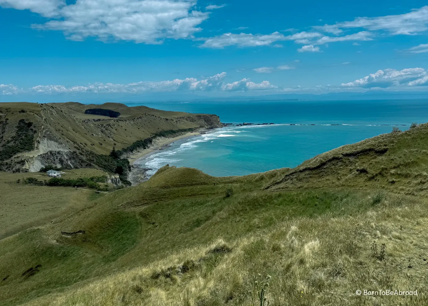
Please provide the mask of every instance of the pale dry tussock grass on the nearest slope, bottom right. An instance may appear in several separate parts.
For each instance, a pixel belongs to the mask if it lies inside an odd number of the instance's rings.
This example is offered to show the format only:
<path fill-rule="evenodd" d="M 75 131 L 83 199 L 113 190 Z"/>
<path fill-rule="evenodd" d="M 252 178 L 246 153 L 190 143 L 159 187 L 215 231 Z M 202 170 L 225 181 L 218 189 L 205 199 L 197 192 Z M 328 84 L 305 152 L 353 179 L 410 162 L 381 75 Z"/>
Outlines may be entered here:
<path fill-rule="evenodd" d="M 371 207 L 373 197 L 356 195 L 351 201 Z M 254 283 L 259 274 L 271 276 L 264 295 L 269 305 L 422 305 L 428 301 L 428 269 L 421 255 L 427 203 L 406 198 L 396 207 L 389 204 L 391 197 L 352 216 L 298 217 L 241 239 L 181 249 L 27 305 L 252 305 L 263 286 Z M 397 231 L 401 239 L 395 238 Z M 384 243 L 384 258 L 373 256 L 373 241 Z M 224 245 L 232 251 L 212 252 Z M 419 295 L 373 299 L 354 294 L 395 288 Z"/>

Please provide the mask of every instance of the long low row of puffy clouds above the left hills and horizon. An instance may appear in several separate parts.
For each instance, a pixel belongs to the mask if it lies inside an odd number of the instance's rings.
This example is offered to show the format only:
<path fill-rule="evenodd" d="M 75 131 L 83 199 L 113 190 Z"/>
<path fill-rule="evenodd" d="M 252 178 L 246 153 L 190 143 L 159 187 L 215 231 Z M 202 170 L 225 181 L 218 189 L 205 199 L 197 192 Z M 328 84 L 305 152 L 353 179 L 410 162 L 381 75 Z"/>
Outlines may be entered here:
<path fill-rule="evenodd" d="M 37 85 L 27 90 L 18 90 L 15 85 L 0 84 L 0 93 L 10 95 L 18 92 L 35 94 L 61 94 L 61 93 L 145 93 L 145 92 L 173 92 L 173 91 L 247 91 L 247 90 L 266 90 L 277 88 L 269 81 L 254 83 L 249 78 L 243 78 L 240 81 L 226 83 L 223 79 L 226 72 L 219 73 L 209 78 L 197 80 L 196 78 L 174 79 L 172 81 L 141 81 L 129 84 L 113 83 L 93 83 L 86 86 L 62 85 Z"/>

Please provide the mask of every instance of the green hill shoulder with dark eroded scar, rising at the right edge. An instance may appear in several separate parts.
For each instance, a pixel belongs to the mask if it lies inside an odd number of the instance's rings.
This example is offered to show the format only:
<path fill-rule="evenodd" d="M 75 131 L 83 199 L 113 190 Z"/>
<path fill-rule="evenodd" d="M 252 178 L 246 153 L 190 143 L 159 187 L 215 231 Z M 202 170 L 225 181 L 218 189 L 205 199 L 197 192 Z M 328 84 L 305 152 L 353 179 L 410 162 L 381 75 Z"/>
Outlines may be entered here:
<path fill-rule="evenodd" d="M 428 190 L 428 124 L 345 145 L 291 169 L 269 190 L 352 187 L 406 194 Z"/>

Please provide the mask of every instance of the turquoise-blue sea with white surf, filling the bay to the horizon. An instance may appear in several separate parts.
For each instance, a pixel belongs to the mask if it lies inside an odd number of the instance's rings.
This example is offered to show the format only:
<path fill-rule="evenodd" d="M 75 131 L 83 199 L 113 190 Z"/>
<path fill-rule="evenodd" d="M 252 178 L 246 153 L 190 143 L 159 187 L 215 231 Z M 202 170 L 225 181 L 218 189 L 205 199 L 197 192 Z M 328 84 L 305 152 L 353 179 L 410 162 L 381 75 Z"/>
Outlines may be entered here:
<path fill-rule="evenodd" d="M 136 164 L 198 168 L 214 176 L 245 175 L 295 167 L 328 150 L 428 122 L 428 100 L 255 101 L 128 103 L 167 111 L 217 114 L 233 123 L 207 134 L 181 139 Z M 275 123 L 236 126 L 238 123 Z"/>

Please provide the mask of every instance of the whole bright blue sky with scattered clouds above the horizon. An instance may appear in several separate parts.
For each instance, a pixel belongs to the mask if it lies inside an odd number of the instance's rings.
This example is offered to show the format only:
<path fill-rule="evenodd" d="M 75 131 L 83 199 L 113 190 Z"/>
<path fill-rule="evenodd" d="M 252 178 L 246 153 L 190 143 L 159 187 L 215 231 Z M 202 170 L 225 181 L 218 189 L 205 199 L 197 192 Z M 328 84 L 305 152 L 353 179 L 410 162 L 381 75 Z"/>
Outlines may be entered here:
<path fill-rule="evenodd" d="M 0 101 L 425 91 L 425 4 L 0 0 Z"/>

